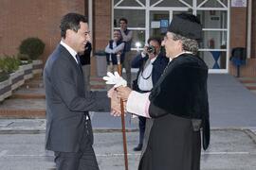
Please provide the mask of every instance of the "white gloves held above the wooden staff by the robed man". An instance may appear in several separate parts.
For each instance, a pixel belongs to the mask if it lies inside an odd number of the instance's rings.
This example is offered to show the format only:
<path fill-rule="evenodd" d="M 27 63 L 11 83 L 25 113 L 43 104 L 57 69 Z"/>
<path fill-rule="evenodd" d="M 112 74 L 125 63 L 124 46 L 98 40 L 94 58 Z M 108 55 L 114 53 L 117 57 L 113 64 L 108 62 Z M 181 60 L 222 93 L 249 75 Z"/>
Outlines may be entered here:
<path fill-rule="evenodd" d="M 106 84 L 115 84 L 115 88 L 127 86 L 127 81 L 119 76 L 118 72 L 115 72 L 114 75 L 111 72 L 107 72 L 107 76 L 103 76 L 103 79 L 106 80 Z"/>

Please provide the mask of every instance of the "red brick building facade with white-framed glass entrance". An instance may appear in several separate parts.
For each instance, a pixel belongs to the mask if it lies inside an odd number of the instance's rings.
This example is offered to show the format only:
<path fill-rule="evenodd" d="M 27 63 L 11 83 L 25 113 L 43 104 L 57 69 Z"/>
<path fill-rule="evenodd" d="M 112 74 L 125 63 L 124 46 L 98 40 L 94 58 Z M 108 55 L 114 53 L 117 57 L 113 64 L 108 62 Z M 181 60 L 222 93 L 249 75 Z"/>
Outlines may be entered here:
<path fill-rule="evenodd" d="M 0 0 L 0 54 L 16 54 L 19 43 L 27 37 L 46 42 L 43 59 L 60 42 L 59 24 L 67 12 L 79 12 L 89 18 L 94 50 L 103 49 L 119 18 L 128 19 L 134 32 L 132 47 L 142 49 L 151 36 L 163 36 L 174 14 L 197 15 L 203 25 L 199 56 L 210 73 L 230 73 L 234 47 L 247 49 L 247 66 L 241 76 L 256 76 L 256 2 L 252 0 Z M 253 10 L 254 9 L 254 10 Z M 139 43 L 138 43 L 139 42 Z M 136 44 L 140 44 L 136 46 Z M 92 73 L 96 73 L 92 57 Z"/>

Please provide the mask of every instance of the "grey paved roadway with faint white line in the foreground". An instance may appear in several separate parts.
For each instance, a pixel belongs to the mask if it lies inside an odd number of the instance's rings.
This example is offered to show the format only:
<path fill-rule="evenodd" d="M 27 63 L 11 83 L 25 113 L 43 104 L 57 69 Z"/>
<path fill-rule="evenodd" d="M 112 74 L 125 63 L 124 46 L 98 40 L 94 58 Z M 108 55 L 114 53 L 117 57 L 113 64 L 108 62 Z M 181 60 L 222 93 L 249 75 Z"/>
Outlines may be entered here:
<path fill-rule="evenodd" d="M 120 132 L 96 132 L 95 152 L 101 170 L 124 170 Z M 136 170 L 137 132 L 127 133 L 129 170 Z M 53 153 L 46 151 L 45 134 L 0 134 L 1 170 L 50 170 Z M 202 151 L 201 170 L 255 170 L 255 135 L 241 129 L 211 129 L 210 148 Z"/>

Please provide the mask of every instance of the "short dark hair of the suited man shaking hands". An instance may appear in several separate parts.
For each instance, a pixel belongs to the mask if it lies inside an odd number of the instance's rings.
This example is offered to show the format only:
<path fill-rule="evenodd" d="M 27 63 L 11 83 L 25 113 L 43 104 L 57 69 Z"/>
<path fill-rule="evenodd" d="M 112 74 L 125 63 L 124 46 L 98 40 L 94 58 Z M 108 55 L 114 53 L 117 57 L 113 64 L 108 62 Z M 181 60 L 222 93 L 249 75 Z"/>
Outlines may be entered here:
<path fill-rule="evenodd" d="M 78 32 L 80 29 L 80 22 L 88 23 L 85 16 L 78 13 L 67 13 L 64 15 L 61 21 L 61 36 L 65 38 L 65 32 L 67 29 L 71 29 L 75 32 Z"/>

